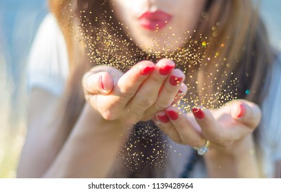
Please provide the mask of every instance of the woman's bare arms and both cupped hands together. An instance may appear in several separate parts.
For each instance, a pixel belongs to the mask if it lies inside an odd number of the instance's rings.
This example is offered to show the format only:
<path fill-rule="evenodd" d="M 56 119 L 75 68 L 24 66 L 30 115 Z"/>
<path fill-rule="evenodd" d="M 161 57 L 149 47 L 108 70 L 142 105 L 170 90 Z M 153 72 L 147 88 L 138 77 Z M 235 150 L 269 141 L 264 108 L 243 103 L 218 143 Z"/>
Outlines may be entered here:
<path fill-rule="evenodd" d="M 167 65 L 172 69 L 161 75 L 160 69 Z M 147 67 L 152 70 L 142 75 Z M 183 95 L 187 91 L 184 84 L 170 84 L 173 75 L 184 77 L 181 71 L 173 68 L 174 63 L 169 60 L 157 64 L 140 62 L 124 75 L 112 67 L 93 68 L 82 81 L 87 104 L 66 141 L 60 128 L 56 125 L 50 127 L 52 119 L 46 118 L 54 114 L 58 98 L 34 89 L 27 143 L 18 176 L 104 178 L 112 169 L 131 126 L 137 121 L 154 119 L 159 128 L 177 143 L 201 147 L 206 139 L 210 141 L 210 152 L 204 155 L 210 177 L 261 177 L 252 138 L 252 132 L 260 121 L 258 106 L 238 100 L 216 110 L 202 110 L 202 119 L 192 113 L 185 114 L 172 107 L 179 89 L 183 90 Z M 42 99 L 49 102 L 42 104 Z M 243 113 L 240 106 L 243 106 Z M 41 112 L 44 107 L 47 110 Z M 137 112 L 134 113 L 134 109 Z M 176 112 L 177 119 L 171 118 L 169 111 Z M 162 122 L 157 118 L 159 115 L 166 115 L 168 122 Z M 278 166 L 280 163 L 276 163 L 276 177 L 280 176 Z"/>

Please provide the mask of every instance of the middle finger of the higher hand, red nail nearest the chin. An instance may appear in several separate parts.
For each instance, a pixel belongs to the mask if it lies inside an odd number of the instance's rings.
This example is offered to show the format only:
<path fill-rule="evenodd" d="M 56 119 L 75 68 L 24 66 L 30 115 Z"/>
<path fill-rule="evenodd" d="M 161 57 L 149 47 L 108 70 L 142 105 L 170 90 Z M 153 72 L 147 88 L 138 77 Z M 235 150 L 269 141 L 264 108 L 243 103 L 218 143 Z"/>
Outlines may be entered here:
<path fill-rule="evenodd" d="M 137 115 L 144 115 L 144 112 L 155 104 L 161 87 L 174 67 L 175 63 L 171 60 L 164 59 L 157 62 L 155 70 L 139 87 L 135 97 L 128 103 L 127 108 Z"/>

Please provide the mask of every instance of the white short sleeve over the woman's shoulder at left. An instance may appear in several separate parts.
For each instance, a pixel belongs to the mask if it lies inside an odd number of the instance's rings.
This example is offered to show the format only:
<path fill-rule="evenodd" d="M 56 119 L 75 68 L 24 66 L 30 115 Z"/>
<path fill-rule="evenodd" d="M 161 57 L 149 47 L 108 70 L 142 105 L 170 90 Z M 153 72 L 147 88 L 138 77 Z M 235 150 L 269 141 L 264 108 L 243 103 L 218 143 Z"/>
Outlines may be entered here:
<path fill-rule="evenodd" d="M 53 14 L 43 19 L 30 51 L 27 64 L 27 86 L 44 88 L 60 95 L 68 77 L 65 38 Z"/>

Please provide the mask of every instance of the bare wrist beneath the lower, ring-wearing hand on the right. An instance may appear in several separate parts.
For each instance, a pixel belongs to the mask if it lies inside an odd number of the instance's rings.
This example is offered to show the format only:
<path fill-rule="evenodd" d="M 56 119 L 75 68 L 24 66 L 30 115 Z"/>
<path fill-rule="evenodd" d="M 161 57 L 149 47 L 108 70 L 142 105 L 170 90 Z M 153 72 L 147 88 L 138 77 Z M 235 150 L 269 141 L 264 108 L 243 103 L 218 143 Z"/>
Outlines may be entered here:
<path fill-rule="evenodd" d="M 211 178 L 260 177 L 252 135 L 227 147 L 211 143 L 204 161 Z"/>

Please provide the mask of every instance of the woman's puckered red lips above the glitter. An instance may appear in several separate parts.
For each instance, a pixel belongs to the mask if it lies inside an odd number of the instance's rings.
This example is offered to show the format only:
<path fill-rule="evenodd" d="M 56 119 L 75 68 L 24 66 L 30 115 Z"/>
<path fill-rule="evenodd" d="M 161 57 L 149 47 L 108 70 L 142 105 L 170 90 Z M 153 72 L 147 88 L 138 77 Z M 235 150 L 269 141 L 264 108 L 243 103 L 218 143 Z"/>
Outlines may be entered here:
<path fill-rule="evenodd" d="M 145 12 L 139 17 L 139 24 L 145 29 L 155 31 L 164 28 L 171 19 L 172 16 L 166 12 Z"/>

